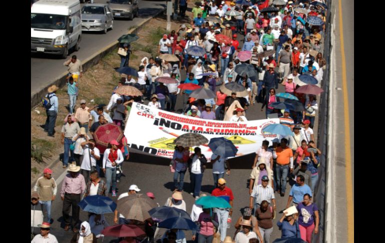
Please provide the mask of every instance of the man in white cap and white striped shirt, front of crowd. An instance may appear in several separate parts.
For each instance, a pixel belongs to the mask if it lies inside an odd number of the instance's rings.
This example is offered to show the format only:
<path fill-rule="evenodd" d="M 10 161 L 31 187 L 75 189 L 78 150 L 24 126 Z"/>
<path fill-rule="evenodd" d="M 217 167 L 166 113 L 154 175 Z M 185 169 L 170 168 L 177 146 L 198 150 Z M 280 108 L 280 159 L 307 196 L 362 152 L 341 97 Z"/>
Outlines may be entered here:
<path fill-rule="evenodd" d="M 254 199 L 254 204 L 252 203 L 252 199 Z M 256 210 L 260 207 L 260 203 L 266 200 L 268 203 L 272 201 L 273 208 L 275 210 L 275 196 L 274 190 L 271 186 L 268 185 L 268 177 L 266 175 L 262 176 L 262 184 L 254 186 L 250 195 L 250 208 L 254 208 Z"/>

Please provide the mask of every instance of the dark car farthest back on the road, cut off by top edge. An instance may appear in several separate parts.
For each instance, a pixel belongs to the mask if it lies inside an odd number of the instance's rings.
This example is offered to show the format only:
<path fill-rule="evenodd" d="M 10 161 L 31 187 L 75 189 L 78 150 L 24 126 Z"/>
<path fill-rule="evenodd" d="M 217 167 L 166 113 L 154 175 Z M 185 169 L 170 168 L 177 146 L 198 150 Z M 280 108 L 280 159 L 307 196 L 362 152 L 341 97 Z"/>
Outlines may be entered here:
<path fill-rule="evenodd" d="M 137 0 L 110 0 L 107 1 L 108 7 L 113 12 L 113 18 L 128 18 L 133 20 L 139 16 Z"/>

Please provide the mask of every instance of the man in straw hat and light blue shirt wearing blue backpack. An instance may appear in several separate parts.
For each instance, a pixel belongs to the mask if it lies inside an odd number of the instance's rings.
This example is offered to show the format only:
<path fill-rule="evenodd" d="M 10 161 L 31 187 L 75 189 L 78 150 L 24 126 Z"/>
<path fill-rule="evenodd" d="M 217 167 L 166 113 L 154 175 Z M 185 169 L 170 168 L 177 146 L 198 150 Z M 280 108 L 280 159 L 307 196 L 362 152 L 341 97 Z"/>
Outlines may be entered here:
<path fill-rule="evenodd" d="M 52 85 L 48 88 L 48 94 L 45 95 L 45 97 L 48 98 L 51 107 L 45 110 L 47 114 L 47 119 L 45 120 L 45 124 L 40 125 L 40 127 L 44 128 L 44 132 L 47 132 L 48 136 L 50 137 L 53 137 L 53 134 L 55 133 L 54 128 L 56 123 L 57 111 L 59 108 L 58 99 L 55 93 L 58 89 L 59 88 L 56 87 L 56 85 Z"/>

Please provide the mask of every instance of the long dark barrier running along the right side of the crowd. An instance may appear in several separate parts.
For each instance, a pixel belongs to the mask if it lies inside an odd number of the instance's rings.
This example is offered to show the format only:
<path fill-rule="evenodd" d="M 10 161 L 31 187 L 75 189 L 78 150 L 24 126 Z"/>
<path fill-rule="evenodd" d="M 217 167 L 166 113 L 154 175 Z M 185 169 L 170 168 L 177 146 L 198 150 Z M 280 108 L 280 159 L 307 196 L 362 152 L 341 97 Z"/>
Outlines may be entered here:
<path fill-rule="evenodd" d="M 331 49 L 331 13 L 330 13 L 330 4 L 331 1 L 327 1 L 327 16 L 326 16 L 326 28 L 324 33 L 324 43 L 323 43 L 323 58 L 326 60 L 326 70 L 323 72 L 322 79 L 322 89 L 324 90 L 320 96 L 319 100 L 319 112 L 318 112 L 318 139 L 317 139 L 317 148 L 321 150 L 322 155 L 320 156 L 320 164 L 318 167 L 318 182 L 315 186 L 315 194 L 313 195 L 314 202 L 318 206 L 319 212 L 319 232 L 313 234 L 311 240 L 312 243 L 324 242 L 325 239 L 325 208 L 326 208 L 326 159 L 327 155 L 327 114 L 328 114 L 328 97 L 329 97 L 329 74 L 330 74 L 330 49 Z"/>

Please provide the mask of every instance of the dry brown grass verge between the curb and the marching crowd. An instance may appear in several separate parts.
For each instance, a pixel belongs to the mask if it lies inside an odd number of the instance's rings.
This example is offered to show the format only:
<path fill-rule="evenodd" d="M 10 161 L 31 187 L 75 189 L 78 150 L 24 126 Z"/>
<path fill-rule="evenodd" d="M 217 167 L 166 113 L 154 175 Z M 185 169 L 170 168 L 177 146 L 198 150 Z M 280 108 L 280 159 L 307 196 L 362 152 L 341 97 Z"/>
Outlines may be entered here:
<path fill-rule="evenodd" d="M 185 23 L 185 22 L 183 22 Z M 181 22 L 171 22 L 171 30 L 177 30 Z M 167 33 L 165 17 L 151 19 L 144 28 L 137 34 L 139 40 L 131 43 L 132 54 L 130 55 L 129 66 L 137 69 L 143 57 L 156 57 L 157 46 L 163 34 Z M 95 104 L 108 104 L 112 89 L 117 85 L 120 74 L 114 68 L 119 67 L 120 58 L 117 49 L 105 56 L 98 64 L 88 69 L 78 81 L 79 95 L 75 109 L 81 99 L 86 100 L 87 107 Z M 55 137 L 48 137 L 39 126 L 45 123 L 45 109 L 39 105 L 31 110 L 31 181 L 39 176 L 47 165 L 58 159 L 63 152 L 63 145 L 60 143 L 61 127 L 63 120 L 68 114 L 69 104 L 66 87 L 56 92 L 59 101 L 59 109 L 55 126 Z"/>

